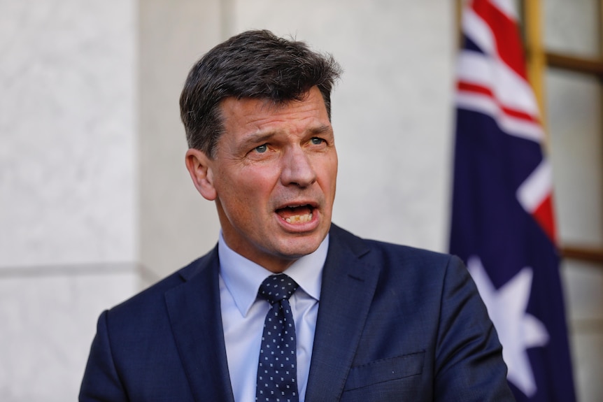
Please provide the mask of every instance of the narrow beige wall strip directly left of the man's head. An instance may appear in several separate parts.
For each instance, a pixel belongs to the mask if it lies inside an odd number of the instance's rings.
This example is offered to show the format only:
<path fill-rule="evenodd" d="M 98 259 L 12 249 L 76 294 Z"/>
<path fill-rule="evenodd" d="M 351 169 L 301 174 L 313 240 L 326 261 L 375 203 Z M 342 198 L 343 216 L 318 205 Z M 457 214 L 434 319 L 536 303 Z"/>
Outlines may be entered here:
<path fill-rule="evenodd" d="M 218 218 L 185 168 L 179 99 L 194 62 L 220 42 L 220 0 L 139 4 L 140 259 L 162 277 L 213 247 Z"/>

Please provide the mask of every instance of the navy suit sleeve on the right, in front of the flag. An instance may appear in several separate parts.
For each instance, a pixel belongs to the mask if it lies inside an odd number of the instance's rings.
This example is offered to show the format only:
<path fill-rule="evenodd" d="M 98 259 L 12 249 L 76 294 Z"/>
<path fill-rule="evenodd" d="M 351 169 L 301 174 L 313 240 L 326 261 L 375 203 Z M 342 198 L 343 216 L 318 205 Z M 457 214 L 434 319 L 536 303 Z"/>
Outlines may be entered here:
<path fill-rule="evenodd" d="M 462 261 L 451 257 L 441 296 L 436 401 L 514 401 L 488 312 Z"/>

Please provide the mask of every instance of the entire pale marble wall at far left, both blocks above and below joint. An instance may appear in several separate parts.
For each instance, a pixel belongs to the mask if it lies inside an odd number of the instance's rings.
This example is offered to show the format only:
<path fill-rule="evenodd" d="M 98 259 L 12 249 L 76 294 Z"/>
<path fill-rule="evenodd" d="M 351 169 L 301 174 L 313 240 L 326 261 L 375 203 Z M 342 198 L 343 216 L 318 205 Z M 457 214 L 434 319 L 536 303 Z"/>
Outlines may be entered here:
<path fill-rule="evenodd" d="M 75 401 L 138 289 L 136 1 L 0 0 L 0 401 Z"/>

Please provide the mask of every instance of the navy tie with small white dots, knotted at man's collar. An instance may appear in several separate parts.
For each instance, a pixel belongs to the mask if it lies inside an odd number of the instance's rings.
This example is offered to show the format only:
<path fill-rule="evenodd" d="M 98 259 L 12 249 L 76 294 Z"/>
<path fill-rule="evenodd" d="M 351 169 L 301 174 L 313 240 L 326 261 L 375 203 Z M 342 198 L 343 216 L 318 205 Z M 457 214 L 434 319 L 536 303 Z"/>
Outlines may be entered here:
<path fill-rule="evenodd" d="M 270 275 L 258 295 L 271 304 L 264 321 L 260 361 L 257 364 L 255 400 L 297 402 L 297 352 L 295 323 L 289 297 L 298 285 L 284 273 Z"/>

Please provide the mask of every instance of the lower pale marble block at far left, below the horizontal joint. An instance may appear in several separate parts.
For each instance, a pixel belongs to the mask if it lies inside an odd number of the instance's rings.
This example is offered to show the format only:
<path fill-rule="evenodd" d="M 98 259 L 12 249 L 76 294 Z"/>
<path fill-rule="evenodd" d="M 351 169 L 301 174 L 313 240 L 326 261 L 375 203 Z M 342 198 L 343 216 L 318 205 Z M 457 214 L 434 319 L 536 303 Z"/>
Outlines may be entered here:
<path fill-rule="evenodd" d="M 130 264 L 0 270 L 0 401 L 76 401 L 98 315 L 138 287 Z"/>

